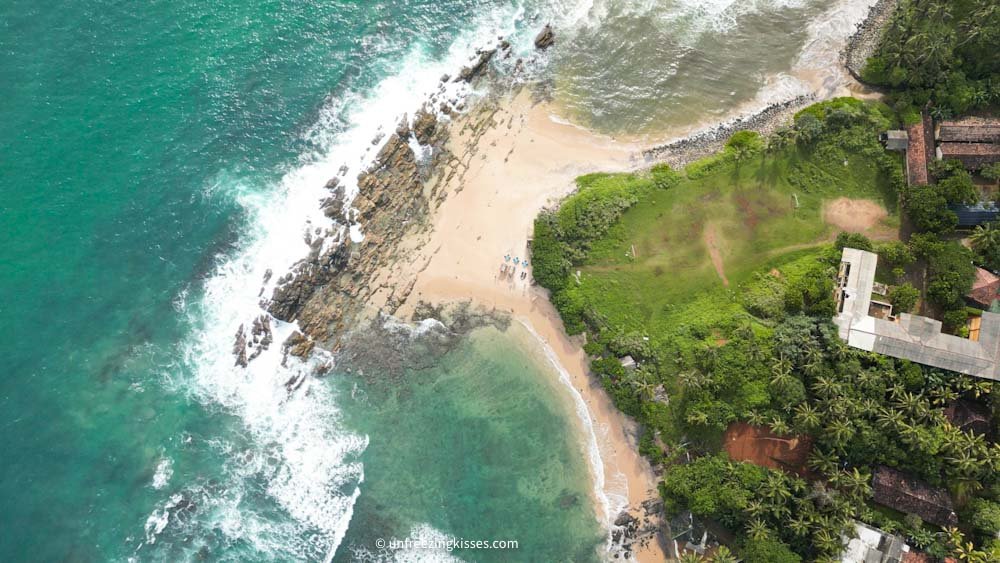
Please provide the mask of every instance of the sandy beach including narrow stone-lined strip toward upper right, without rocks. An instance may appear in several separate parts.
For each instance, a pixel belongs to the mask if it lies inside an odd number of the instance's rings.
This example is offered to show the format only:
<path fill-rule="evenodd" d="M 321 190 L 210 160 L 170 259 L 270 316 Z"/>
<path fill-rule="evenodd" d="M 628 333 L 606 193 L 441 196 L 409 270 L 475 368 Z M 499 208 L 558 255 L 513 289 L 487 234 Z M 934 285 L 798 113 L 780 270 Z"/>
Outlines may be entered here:
<path fill-rule="evenodd" d="M 836 50 L 842 46 L 836 45 Z M 547 292 L 531 284 L 530 265 L 518 265 L 513 276 L 502 275 L 501 267 L 513 266 L 514 258 L 530 258 L 527 246 L 535 217 L 571 193 L 574 179 L 582 174 L 631 171 L 654 162 L 683 166 L 718 150 L 735 130 L 766 134 L 818 99 L 872 95 L 842 68 L 827 72 L 835 78 L 803 76 L 816 79 L 812 95 L 763 111 L 737 111 L 736 116 L 743 116 L 694 132 L 675 132 L 664 137 L 673 141 L 658 146 L 651 146 L 649 139 L 615 139 L 572 125 L 555 117 L 555 106 L 533 101 L 528 89 L 476 104 L 448 124 L 448 150 L 457 158 L 435 171 L 441 177 L 427 182 L 440 190 L 428 194 L 436 202 L 429 224 L 404 239 L 389 261 L 392 266 L 378 274 L 374 286 L 380 289 L 371 305 L 409 318 L 421 302 L 471 301 L 524 324 L 565 370 L 587 408 L 602 465 L 592 473 L 604 496 L 613 499 L 610 507 L 598 502 L 598 512 L 607 509 L 610 525 L 618 516 L 614 500 L 621 499 L 619 504 L 627 502 L 627 510 L 640 516 L 643 503 L 657 500 L 658 494 L 657 477 L 638 453 L 636 423 L 615 408 L 600 382 L 590 376 L 582 338 L 566 335 Z M 525 279 L 522 272 L 527 272 Z M 639 561 L 662 561 L 665 542 L 659 536 L 640 539 L 632 544 L 632 555 Z"/>

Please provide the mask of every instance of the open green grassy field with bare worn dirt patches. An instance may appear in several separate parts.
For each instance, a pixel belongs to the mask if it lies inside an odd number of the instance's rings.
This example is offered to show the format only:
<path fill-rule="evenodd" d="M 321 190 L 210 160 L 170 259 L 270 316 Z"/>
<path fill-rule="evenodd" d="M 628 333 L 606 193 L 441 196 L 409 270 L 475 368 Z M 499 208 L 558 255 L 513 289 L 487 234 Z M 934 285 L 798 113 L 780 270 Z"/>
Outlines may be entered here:
<path fill-rule="evenodd" d="M 805 184 L 805 174 L 819 179 Z M 823 206 L 843 197 L 886 207 L 877 230 L 894 232 L 895 195 L 863 157 L 822 166 L 789 151 L 723 163 L 669 190 L 645 191 L 593 242 L 574 268 L 580 283 L 567 291 L 626 332 L 667 336 L 692 322 L 712 324 L 740 312 L 737 293 L 754 272 L 780 269 L 829 242 L 839 229 L 824 222 Z"/>

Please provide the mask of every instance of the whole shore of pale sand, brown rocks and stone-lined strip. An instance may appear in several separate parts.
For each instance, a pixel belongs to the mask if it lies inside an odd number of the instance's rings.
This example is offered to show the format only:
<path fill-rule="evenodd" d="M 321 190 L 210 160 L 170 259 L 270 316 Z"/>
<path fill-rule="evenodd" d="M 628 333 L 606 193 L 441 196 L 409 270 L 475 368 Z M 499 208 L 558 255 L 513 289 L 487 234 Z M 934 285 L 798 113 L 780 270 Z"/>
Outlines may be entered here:
<path fill-rule="evenodd" d="M 884 23 L 877 18 L 870 23 L 877 15 L 869 9 L 857 30 Z M 855 31 L 844 37 L 847 47 L 841 43 L 837 50 L 850 49 L 850 42 L 863 35 Z M 364 235 L 355 240 L 352 234 L 350 242 L 336 236 L 333 247 L 322 238 L 311 242 L 309 259 L 295 275 L 279 280 L 272 313 L 299 321 L 305 333 L 293 334 L 285 353 L 308 356 L 317 343 L 336 351 L 342 328 L 374 311 L 408 319 L 424 304 L 471 302 L 509 315 L 534 335 L 554 372 L 572 387 L 567 394 L 585 406 L 578 409 L 579 423 L 600 452 L 599 459 L 590 456 L 590 468 L 595 515 L 605 520 L 609 547 L 616 557 L 664 560 L 668 549 L 660 537 L 658 478 L 638 453 L 637 425 L 590 377 L 582 339 L 566 335 L 547 292 L 531 285 L 530 276 L 501 276 L 500 267 L 504 256 L 528 257 L 538 212 L 573 192 L 580 175 L 635 171 L 655 162 L 683 166 L 717 151 L 735 131 L 767 134 L 813 102 L 869 95 L 843 66 L 824 70 L 832 71 L 827 79 L 817 73 L 809 80 L 814 93 L 693 134 L 679 131 L 687 135 L 654 147 L 559 119 L 552 105 L 533 99 L 530 87 L 523 86 L 476 100 L 460 114 L 443 112 L 450 119 L 435 116 L 427 106 L 412 124 L 404 116 L 359 176 L 353 201 L 341 209 L 346 198 L 339 178 L 327 184 L 333 194 L 324 202 L 327 215 L 341 224 L 345 218 L 357 221 Z M 414 140 L 422 148 L 414 150 Z M 344 273 L 333 275 L 327 264 Z M 619 506 L 624 510 L 619 512 Z"/>

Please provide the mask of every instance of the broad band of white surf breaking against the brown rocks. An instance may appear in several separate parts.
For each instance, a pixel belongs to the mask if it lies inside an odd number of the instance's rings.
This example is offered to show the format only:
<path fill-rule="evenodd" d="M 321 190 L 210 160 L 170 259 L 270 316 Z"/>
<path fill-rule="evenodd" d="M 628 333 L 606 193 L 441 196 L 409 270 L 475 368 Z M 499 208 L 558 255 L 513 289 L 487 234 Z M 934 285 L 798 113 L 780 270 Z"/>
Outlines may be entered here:
<path fill-rule="evenodd" d="M 515 24 L 523 20 L 520 7 L 486 14 L 439 60 L 418 45 L 394 65 L 401 72 L 383 79 L 367 95 L 352 92 L 331 100 L 305 135 L 321 150 L 301 155 L 277 185 L 255 189 L 222 172 L 207 188 L 209 195 L 221 193 L 246 209 L 251 228 L 234 256 L 220 257 L 204 283 L 202 299 L 175 300 L 175 308 L 195 327 L 182 349 L 191 375 L 175 379 L 166 374 L 165 379 L 206 407 L 236 415 L 252 446 L 241 451 L 225 437 L 205 441 L 229 459 L 218 489 L 178 483 L 168 491 L 169 467 L 164 466 L 154 487 L 164 488 L 165 497 L 147 518 L 145 541 L 137 553 L 163 545 L 157 539 L 178 528 L 178 534 L 193 535 L 199 544 L 221 533 L 226 543 L 249 545 L 260 556 L 325 561 L 335 556 L 361 493 L 364 468 L 359 459 L 368 437 L 341 430 L 336 395 L 309 377 L 317 362 L 332 358 L 322 352 L 305 362 L 285 357 L 280 344 L 299 327 L 274 319 L 266 312 L 266 302 L 282 275 L 310 252 L 307 238 L 323 233 L 324 244 L 343 244 L 347 238 L 364 236 L 363 225 L 339 225 L 325 216 L 321 202 L 329 196 L 326 182 L 342 179 L 349 208 L 357 194 L 358 173 L 380 149 L 372 138 L 393 131 L 404 115 L 412 116 L 435 95 L 452 100 L 474 96 L 468 84 L 442 82 L 439 77 L 454 75 L 474 58 L 477 48 L 495 43 L 498 35 L 513 35 Z M 530 48 L 525 37 L 517 44 Z M 256 332 L 265 325 L 270 346 L 261 345 Z M 246 367 L 234 366 L 233 335 L 247 331 L 253 335 L 252 357 Z M 295 382 L 294 390 L 290 382 Z M 263 491 L 253 488 L 261 480 Z M 248 510 L 245 499 L 254 494 L 267 495 L 290 518 Z M 194 506 L 200 507 L 196 518 L 187 512 L 180 517 Z"/>

